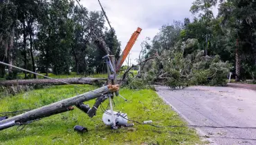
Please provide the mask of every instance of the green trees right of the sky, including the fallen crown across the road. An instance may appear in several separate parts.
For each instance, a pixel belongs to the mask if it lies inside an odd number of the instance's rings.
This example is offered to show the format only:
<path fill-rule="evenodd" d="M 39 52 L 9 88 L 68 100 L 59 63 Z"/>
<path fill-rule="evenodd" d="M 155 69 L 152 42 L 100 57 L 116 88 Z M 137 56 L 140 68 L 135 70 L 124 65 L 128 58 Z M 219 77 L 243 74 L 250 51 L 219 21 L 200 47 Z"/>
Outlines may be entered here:
<path fill-rule="evenodd" d="M 150 80 L 154 80 L 161 76 L 167 84 L 177 84 L 195 82 L 191 79 L 197 76 L 197 83 L 192 84 L 222 85 L 231 71 L 237 81 L 255 81 L 256 3 L 253 0 L 219 1 L 219 13 L 214 17 L 212 7 L 217 2 L 194 1 L 190 8 L 196 15 L 193 21 L 185 18 L 183 22 L 164 25 L 152 41 L 142 43 L 138 61 L 154 57 L 143 64 L 144 77 L 151 76 Z M 154 70 L 147 69 L 152 67 Z"/>

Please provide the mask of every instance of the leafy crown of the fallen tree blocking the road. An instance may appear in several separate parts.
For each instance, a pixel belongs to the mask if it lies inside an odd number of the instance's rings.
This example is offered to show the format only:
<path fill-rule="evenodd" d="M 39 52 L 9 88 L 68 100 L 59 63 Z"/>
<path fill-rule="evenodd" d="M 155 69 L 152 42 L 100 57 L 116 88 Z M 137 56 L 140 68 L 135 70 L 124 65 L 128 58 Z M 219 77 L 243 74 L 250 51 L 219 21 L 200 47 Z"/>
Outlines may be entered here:
<path fill-rule="evenodd" d="M 221 61 L 219 55 L 205 56 L 203 50 L 185 53 L 186 47 L 178 43 L 170 50 L 163 50 L 161 55 L 152 50 L 152 53 L 144 57 L 145 63 L 139 64 L 139 77 L 129 77 L 127 74 L 131 69 L 127 69 L 123 76 L 128 76 L 125 84 L 131 89 L 150 88 L 152 84 L 170 88 L 194 85 L 226 86 L 227 74 L 232 68 L 228 61 Z M 152 55 L 153 58 L 150 57 Z"/>

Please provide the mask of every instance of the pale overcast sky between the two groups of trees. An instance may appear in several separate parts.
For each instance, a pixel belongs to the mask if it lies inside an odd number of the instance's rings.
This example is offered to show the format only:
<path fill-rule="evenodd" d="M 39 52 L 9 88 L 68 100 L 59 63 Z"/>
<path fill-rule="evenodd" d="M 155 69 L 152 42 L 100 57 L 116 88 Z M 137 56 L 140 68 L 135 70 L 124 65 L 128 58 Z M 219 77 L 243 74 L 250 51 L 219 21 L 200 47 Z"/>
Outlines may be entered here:
<path fill-rule="evenodd" d="M 132 33 L 138 28 L 142 32 L 131 49 L 132 64 L 140 52 L 140 43 L 146 37 L 151 39 L 163 24 L 172 24 L 174 20 L 193 18 L 190 6 L 194 0 L 100 0 L 107 13 L 111 26 L 116 30 L 122 50 Z M 81 0 L 80 3 L 90 11 L 101 10 L 98 0 Z M 105 24 L 107 26 L 107 23 Z M 107 26 L 108 27 L 108 26 Z"/>

